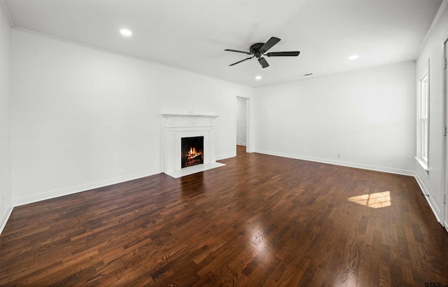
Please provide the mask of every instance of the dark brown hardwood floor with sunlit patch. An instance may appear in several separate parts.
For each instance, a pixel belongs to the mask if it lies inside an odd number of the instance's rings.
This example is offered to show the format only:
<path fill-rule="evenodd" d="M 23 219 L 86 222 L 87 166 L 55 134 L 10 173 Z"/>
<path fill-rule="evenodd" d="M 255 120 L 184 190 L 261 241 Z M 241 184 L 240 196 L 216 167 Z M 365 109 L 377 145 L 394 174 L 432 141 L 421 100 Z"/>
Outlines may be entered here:
<path fill-rule="evenodd" d="M 241 148 L 181 179 L 15 207 L 0 285 L 448 284 L 448 235 L 414 178 Z"/>

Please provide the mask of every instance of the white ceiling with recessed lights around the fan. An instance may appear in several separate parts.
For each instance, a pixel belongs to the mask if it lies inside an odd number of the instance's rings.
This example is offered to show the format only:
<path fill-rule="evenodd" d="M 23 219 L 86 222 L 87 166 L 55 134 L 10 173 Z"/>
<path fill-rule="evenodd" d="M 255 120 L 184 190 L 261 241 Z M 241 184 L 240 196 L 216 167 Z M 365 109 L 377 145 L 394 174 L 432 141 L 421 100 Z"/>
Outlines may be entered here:
<path fill-rule="evenodd" d="M 414 59 L 442 0 L 5 0 L 15 27 L 252 87 Z M 132 30 L 130 37 L 119 33 Z M 281 38 L 254 58 L 248 50 Z M 359 58 L 351 61 L 350 55 Z M 255 80 L 255 76 L 262 80 Z"/>

